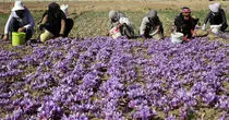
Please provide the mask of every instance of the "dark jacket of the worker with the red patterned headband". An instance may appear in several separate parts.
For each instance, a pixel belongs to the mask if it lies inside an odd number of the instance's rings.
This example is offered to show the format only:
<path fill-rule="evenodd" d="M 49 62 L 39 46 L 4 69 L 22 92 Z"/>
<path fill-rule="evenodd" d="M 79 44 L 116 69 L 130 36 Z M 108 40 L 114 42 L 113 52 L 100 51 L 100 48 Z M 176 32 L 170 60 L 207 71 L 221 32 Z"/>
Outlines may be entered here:
<path fill-rule="evenodd" d="M 182 13 L 180 13 L 174 19 L 174 25 L 176 25 L 177 32 L 183 33 L 184 36 L 188 36 L 188 38 L 192 37 L 192 32 L 194 32 L 194 28 L 197 22 L 198 22 L 198 19 L 193 19 L 192 16 L 190 16 L 190 19 L 185 21 Z"/>

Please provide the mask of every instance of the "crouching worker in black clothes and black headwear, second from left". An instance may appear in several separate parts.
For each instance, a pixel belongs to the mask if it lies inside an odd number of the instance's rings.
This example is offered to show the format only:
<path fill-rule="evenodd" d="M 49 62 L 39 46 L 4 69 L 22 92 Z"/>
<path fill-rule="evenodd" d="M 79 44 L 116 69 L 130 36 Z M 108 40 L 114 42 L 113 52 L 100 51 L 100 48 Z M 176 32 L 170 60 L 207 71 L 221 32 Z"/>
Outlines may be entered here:
<path fill-rule="evenodd" d="M 50 38 L 68 37 L 73 27 L 73 21 L 68 21 L 60 5 L 52 2 L 48 5 L 48 10 L 44 13 L 39 29 L 45 32 L 40 35 L 40 41 Z"/>

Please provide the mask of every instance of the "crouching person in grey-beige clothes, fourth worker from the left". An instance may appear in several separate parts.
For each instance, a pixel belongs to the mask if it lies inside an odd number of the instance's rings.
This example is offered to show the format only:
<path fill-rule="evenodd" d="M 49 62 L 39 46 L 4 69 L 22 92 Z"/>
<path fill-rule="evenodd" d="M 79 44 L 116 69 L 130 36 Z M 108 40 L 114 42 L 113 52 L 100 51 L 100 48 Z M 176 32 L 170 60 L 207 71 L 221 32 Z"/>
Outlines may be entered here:
<path fill-rule="evenodd" d="M 140 35 L 144 38 L 164 38 L 164 27 L 159 17 L 157 16 L 157 11 L 150 10 L 142 20 L 140 26 Z"/>

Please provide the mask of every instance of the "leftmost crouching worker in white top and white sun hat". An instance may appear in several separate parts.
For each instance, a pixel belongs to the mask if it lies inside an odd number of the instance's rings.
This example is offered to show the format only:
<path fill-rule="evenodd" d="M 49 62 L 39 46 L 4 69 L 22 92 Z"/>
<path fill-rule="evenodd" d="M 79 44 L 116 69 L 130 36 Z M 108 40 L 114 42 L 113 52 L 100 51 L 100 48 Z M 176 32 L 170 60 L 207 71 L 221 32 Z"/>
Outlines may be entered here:
<path fill-rule="evenodd" d="M 34 19 L 22 3 L 22 1 L 15 1 L 12 12 L 4 26 L 4 36 L 2 40 L 9 39 L 9 34 L 12 32 L 26 33 L 25 40 L 28 40 L 34 32 Z"/>

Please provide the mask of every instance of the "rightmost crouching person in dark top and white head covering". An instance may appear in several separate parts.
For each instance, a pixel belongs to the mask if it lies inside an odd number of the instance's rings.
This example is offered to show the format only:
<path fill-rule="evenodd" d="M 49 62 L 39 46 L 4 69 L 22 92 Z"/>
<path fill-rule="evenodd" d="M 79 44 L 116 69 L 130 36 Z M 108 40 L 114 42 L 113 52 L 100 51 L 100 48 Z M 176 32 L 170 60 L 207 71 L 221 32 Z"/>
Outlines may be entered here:
<path fill-rule="evenodd" d="M 228 27 L 227 19 L 225 11 L 221 9 L 221 4 L 219 2 L 216 2 L 214 4 L 209 4 L 209 13 L 207 14 L 204 24 L 202 26 L 202 29 L 206 29 L 206 24 L 209 21 L 210 25 L 220 25 L 220 31 L 225 32 Z"/>

